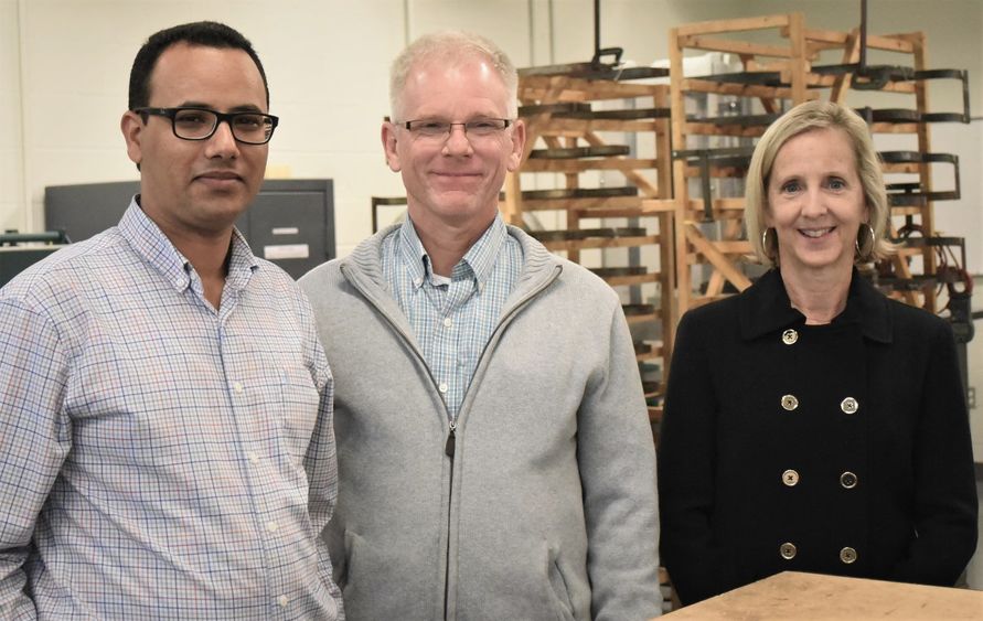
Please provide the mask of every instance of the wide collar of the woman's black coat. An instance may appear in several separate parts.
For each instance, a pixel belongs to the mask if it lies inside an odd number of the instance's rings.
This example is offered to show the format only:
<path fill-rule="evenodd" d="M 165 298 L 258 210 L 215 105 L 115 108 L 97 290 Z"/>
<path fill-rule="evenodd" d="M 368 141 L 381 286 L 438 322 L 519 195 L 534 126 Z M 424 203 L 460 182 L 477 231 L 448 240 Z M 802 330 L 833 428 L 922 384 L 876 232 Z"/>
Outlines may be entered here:
<path fill-rule="evenodd" d="M 778 269 L 769 270 L 740 295 L 740 332 L 746 340 L 805 323 L 805 317 L 792 308 Z M 891 342 L 891 315 L 887 298 L 861 277 L 856 268 L 846 295 L 846 308 L 833 319 L 834 324 L 858 323 L 867 339 Z"/>

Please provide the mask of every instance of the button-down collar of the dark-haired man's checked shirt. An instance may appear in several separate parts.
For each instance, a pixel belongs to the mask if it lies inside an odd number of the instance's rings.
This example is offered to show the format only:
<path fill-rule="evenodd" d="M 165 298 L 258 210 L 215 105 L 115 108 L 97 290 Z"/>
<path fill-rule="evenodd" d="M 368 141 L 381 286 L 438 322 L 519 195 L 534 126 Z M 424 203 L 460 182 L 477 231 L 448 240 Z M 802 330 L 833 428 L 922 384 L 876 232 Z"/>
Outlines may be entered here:
<path fill-rule="evenodd" d="M 130 201 L 117 228 L 139 256 L 153 266 L 179 291 L 191 286 L 193 267 L 157 224 L 140 207 L 140 195 Z M 232 232 L 232 257 L 226 283 L 234 290 L 243 289 L 259 261 L 237 228 Z"/>

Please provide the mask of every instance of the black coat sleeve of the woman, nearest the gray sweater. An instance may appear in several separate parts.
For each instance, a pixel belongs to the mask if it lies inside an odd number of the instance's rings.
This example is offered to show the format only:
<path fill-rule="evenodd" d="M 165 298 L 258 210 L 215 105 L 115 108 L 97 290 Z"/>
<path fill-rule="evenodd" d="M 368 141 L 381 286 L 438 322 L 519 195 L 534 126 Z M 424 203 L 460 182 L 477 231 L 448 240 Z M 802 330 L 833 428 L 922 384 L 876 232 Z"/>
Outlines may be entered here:
<path fill-rule="evenodd" d="M 687 313 L 676 332 L 659 438 L 660 549 L 680 600 L 735 588 L 735 566 L 713 535 L 718 397 L 705 335 Z"/>

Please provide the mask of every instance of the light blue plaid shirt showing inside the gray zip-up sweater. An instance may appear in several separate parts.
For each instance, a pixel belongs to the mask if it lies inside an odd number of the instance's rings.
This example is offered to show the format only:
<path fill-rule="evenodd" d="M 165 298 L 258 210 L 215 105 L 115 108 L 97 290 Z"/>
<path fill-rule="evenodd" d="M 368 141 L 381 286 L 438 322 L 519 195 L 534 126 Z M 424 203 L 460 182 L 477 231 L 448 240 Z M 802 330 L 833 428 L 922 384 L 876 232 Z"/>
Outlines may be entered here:
<path fill-rule="evenodd" d="M 519 280 L 522 247 L 495 215 L 447 280 L 434 274 L 407 217 L 383 239 L 382 265 L 453 420 L 505 299 Z"/>

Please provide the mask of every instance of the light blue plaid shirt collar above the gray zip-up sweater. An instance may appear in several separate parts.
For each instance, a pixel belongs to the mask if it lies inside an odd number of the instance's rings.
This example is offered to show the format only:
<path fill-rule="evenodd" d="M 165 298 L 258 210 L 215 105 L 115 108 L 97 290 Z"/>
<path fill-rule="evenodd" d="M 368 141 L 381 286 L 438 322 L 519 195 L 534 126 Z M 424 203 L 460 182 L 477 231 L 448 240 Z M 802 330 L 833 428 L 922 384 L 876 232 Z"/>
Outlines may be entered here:
<path fill-rule="evenodd" d="M 505 243 L 507 235 L 509 232 L 505 228 L 502 216 L 495 214 L 491 225 L 484 229 L 481 237 L 468 248 L 468 251 L 464 253 L 458 265 L 453 267 L 451 279 L 460 280 L 471 276 L 478 289 L 484 289 L 484 285 L 495 266 L 499 250 L 502 248 L 502 244 Z M 426 248 L 424 248 L 419 235 L 416 233 L 416 226 L 408 216 L 399 227 L 398 236 L 399 253 L 408 266 L 414 287 L 419 288 L 432 274 L 432 266 L 430 257 Z"/>

